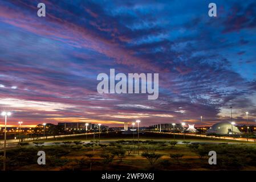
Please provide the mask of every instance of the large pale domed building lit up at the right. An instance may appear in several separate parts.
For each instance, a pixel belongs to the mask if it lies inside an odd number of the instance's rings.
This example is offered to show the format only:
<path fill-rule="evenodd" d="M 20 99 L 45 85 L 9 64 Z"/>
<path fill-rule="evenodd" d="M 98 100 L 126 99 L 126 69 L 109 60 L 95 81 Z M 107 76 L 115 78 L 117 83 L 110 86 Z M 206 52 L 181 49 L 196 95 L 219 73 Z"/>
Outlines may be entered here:
<path fill-rule="evenodd" d="M 231 123 L 216 123 L 207 131 L 208 134 L 232 134 L 232 125 Z M 234 134 L 241 134 L 241 131 L 237 127 L 233 126 Z"/>

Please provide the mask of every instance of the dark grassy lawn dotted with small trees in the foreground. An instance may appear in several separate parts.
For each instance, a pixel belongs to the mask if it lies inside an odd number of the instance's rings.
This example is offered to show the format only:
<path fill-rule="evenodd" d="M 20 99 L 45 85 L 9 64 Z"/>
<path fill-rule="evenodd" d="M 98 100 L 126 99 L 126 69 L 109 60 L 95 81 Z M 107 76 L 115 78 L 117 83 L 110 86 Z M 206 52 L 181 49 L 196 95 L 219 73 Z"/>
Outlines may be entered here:
<path fill-rule="evenodd" d="M 256 170 L 256 146 L 254 144 L 225 144 L 223 140 L 198 140 L 191 137 L 186 141 L 200 141 L 201 144 L 175 144 L 173 139 L 166 136 L 152 137 L 143 135 L 139 145 L 127 136 L 105 136 L 101 138 L 101 145 L 97 143 L 93 150 L 92 143 L 62 143 L 64 141 L 83 140 L 83 137 L 47 140 L 43 146 L 23 146 L 7 150 L 7 169 L 9 170 Z M 88 137 L 88 141 L 93 138 Z M 123 139 L 123 140 L 118 140 Z M 137 141 L 137 140 L 136 140 Z M 177 141 L 182 142 L 182 139 Z M 204 142 L 214 143 L 204 143 Z M 225 142 L 220 144 L 218 142 Z M 37 164 L 39 150 L 46 152 L 46 165 Z M 217 165 L 209 165 L 208 152 L 214 150 L 218 154 Z M 122 153 L 122 151 L 124 153 Z M 129 153 L 130 151 L 130 153 Z M 141 154 L 160 155 L 153 164 Z M 203 153 L 204 155 L 202 155 Z M 94 154 L 92 156 L 88 154 Z M 180 154 L 180 158 L 170 155 Z M 2 165 L 2 164 L 1 164 Z M 0 166 L 1 167 L 1 166 Z"/>

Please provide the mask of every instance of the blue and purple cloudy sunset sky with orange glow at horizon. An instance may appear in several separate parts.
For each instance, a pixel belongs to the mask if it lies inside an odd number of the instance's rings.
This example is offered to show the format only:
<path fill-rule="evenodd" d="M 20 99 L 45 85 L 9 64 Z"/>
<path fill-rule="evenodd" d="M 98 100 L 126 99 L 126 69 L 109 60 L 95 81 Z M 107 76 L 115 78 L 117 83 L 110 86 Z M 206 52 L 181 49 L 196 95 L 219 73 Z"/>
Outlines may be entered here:
<path fill-rule="evenodd" d="M 9 125 L 209 126 L 230 121 L 233 106 L 237 124 L 246 111 L 256 123 L 255 32 L 254 0 L 1 0 L 0 111 L 13 113 Z M 97 75 L 110 68 L 159 73 L 159 98 L 97 93 Z"/>

